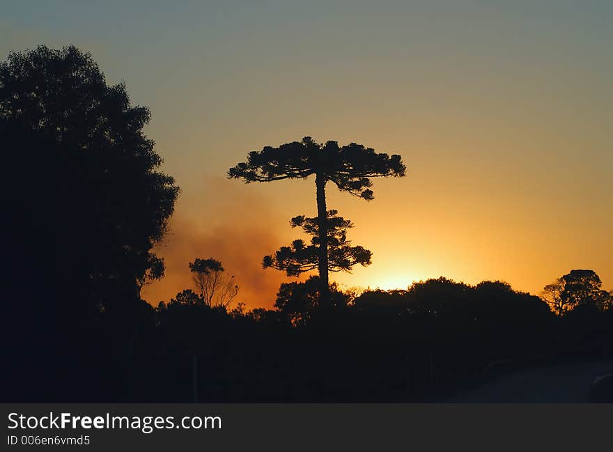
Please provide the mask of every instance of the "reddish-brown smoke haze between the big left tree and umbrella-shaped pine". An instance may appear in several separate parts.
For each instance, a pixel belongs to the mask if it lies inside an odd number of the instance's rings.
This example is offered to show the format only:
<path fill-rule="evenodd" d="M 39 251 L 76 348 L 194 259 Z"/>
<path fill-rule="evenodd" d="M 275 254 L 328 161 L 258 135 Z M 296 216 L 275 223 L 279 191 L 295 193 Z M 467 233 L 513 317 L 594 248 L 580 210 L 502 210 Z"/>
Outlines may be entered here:
<path fill-rule="evenodd" d="M 199 200 L 180 196 L 169 233 L 155 248 L 164 258 L 165 276 L 143 288 L 144 299 L 157 306 L 181 290 L 194 290 L 188 263 L 215 258 L 239 286 L 231 306 L 245 302 L 249 309 L 271 307 L 279 284 L 287 279 L 281 272 L 263 270 L 261 262 L 283 243 L 283 234 L 274 228 L 286 221 L 271 212 L 269 203 L 249 193 L 251 187 L 236 182 L 208 178 L 197 192 L 202 194 Z"/>

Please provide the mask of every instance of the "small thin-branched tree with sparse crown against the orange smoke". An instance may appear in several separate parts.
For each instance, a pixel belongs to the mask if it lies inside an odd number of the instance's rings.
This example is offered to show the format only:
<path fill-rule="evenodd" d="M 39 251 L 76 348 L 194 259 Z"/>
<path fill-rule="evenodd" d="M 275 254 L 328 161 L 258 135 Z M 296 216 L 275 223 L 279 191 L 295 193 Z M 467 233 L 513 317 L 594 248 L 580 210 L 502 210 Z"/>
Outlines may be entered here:
<path fill-rule="evenodd" d="M 194 274 L 194 283 L 206 306 L 227 307 L 238 295 L 234 275 L 225 273 L 219 260 L 196 258 L 189 263 L 189 270 Z"/>

